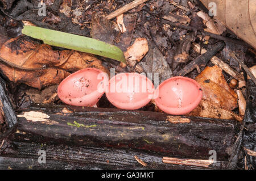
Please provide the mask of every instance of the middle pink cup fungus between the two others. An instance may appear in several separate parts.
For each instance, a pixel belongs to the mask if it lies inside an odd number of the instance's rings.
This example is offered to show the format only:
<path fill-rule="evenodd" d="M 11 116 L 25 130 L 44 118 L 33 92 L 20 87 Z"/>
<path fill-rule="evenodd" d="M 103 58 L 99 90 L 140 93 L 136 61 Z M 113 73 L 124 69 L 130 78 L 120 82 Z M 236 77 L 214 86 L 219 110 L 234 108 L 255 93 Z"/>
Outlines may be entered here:
<path fill-rule="evenodd" d="M 106 97 L 115 107 L 137 110 L 146 106 L 154 96 L 154 85 L 138 73 L 121 73 L 112 77 L 106 88 Z"/>

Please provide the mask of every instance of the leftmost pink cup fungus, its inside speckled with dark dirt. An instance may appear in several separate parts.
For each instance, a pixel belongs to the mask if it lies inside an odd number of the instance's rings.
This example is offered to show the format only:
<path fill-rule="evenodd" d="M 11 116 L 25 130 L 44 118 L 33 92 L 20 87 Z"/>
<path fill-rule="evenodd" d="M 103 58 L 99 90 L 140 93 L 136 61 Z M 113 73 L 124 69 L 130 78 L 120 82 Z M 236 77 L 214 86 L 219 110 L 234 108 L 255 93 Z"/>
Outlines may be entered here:
<path fill-rule="evenodd" d="M 73 106 L 95 106 L 104 94 L 108 84 L 106 73 L 99 69 L 87 68 L 76 71 L 65 78 L 57 93 L 66 104 Z"/>

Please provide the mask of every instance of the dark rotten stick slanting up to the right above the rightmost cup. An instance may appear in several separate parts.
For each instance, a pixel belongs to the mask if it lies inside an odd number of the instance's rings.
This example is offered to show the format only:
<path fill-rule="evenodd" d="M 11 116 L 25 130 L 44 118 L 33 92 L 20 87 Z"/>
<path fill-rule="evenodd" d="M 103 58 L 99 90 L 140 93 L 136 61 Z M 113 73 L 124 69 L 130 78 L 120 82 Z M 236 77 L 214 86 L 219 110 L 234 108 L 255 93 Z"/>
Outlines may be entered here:
<path fill-rule="evenodd" d="M 183 69 L 178 71 L 176 75 L 179 76 L 184 76 L 185 74 L 188 74 L 191 72 L 193 69 L 196 68 L 196 66 L 199 67 L 204 67 L 207 65 L 208 61 L 216 54 L 218 53 L 221 49 L 224 48 L 224 42 L 220 41 L 216 45 L 212 47 L 212 49 L 208 50 L 204 54 L 201 54 L 198 56 L 195 60 L 191 61 L 188 65 L 186 65 Z"/>

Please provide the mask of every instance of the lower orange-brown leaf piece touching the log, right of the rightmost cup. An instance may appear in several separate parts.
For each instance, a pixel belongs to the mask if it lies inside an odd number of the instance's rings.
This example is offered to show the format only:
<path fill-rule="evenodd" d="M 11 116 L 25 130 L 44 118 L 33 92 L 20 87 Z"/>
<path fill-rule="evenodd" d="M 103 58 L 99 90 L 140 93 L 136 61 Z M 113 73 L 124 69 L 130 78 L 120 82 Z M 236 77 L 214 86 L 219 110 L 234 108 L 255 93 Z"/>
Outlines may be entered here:
<path fill-rule="evenodd" d="M 238 120 L 242 122 L 243 118 L 236 113 L 221 108 L 217 104 L 210 102 L 209 100 L 202 99 L 199 106 L 197 106 L 193 111 L 187 114 L 187 116 L 199 116 L 199 117 L 209 117 L 214 119 L 228 119 L 228 120 Z"/>

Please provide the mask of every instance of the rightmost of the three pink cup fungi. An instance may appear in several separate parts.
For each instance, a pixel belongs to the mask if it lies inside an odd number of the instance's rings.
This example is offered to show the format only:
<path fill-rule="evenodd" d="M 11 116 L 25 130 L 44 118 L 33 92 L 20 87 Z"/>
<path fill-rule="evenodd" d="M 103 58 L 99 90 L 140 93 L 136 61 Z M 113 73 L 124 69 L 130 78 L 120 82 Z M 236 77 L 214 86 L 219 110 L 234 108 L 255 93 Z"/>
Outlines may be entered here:
<path fill-rule="evenodd" d="M 162 82 L 155 91 L 156 106 L 171 115 L 183 115 L 198 106 L 203 91 L 195 80 L 172 77 Z"/>

